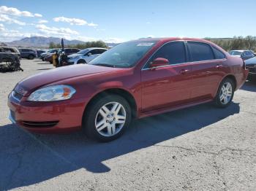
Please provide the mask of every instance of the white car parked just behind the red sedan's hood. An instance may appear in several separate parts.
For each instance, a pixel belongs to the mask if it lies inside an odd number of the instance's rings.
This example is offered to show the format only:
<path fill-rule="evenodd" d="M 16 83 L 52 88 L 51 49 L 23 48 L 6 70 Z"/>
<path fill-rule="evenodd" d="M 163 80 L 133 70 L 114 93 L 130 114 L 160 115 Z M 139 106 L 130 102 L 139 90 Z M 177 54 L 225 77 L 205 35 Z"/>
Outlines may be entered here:
<path fill-rule="evenodd" d="M 108 49 L 98 48 L 98 47 L 86 48 L 86 49 L 80 50 L 75 54 L 68 55 L 67 63 L 68 65 L 78 64 L 78 63 L 89 63 L 94 58 L 96 58 L 97 56 L 105 52 L 106 50 Z"/>

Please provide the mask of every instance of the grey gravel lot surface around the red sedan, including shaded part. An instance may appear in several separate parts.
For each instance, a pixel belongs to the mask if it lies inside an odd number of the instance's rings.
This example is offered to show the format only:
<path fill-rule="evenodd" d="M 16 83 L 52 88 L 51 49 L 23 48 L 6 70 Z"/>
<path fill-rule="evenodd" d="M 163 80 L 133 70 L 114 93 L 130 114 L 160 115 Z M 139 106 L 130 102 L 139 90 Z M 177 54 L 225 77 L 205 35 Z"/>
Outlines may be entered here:
<path fill-rule="evenodd" d="M 36 135 L 7 120 L 7 95 L 52 69 L 21 61 L 0 74 L 0 190 L 256 190 L 256 83 L 227 109 L 194 106 L 135 121 L 100 144 L 80 132 Z"/>

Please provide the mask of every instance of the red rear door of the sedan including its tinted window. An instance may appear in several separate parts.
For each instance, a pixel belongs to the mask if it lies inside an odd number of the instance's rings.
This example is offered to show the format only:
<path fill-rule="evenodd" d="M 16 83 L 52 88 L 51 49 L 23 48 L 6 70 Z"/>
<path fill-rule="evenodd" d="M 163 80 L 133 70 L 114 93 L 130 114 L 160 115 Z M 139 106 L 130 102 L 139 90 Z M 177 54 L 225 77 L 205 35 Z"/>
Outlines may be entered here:
<path fill-rule="evenodd" d="M 223 76 L 225 55 L 203 42 L 187 42 L 192 66 L 192 101 L 213 98 Z"/>

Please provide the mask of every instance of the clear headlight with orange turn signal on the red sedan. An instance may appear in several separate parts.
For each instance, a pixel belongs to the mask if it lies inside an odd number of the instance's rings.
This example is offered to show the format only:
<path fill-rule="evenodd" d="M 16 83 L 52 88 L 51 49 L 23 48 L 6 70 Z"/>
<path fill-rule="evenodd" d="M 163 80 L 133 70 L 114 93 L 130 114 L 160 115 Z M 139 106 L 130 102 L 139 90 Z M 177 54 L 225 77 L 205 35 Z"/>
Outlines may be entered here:
<path fill-rule="evenodd" d="M 75 89 L 69 85 L 52 85 L 35 90 L 28 101 L 59 101 L 72 97 Z"/>

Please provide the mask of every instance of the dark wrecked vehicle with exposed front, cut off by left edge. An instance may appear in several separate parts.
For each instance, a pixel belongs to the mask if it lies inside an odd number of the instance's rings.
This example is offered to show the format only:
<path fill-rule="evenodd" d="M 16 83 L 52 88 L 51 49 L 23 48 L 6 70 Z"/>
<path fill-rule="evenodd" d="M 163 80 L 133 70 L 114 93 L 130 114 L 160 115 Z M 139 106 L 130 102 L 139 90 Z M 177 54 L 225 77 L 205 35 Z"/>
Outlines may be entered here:
<path fill-rule="evenodd" d="M 0 71 L 18 70 L 22 70 L 20 68 L 20 52 L 15 47 L 0 46 Z"/>

